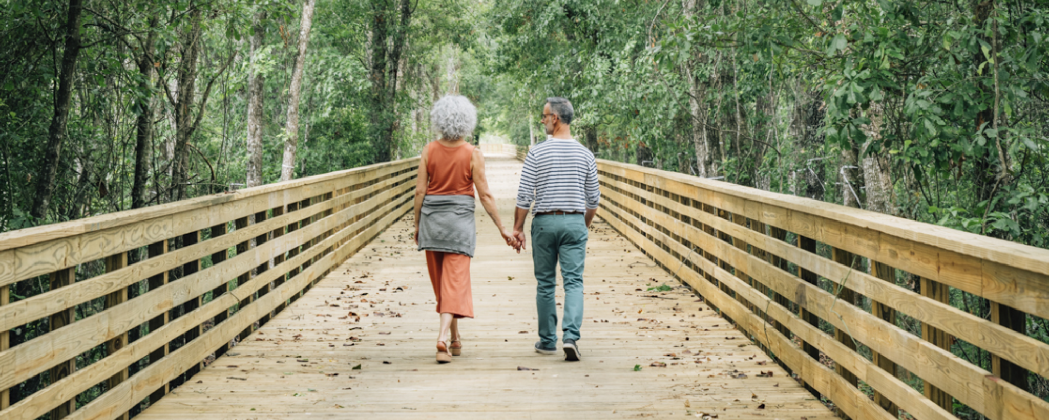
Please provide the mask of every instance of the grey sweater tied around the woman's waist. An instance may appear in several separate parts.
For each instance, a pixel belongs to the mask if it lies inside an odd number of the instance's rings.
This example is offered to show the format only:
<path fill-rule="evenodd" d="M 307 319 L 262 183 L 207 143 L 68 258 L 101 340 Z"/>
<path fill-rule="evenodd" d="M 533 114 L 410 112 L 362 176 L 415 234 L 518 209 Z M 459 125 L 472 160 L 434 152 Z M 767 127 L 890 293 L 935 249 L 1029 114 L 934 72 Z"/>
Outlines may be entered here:
<path fill-rule="evenodd" d="M 419 217 L 419 250 L 473 258 L 477 246 L 473 209 L 470 196 L 426 196 Z"/>

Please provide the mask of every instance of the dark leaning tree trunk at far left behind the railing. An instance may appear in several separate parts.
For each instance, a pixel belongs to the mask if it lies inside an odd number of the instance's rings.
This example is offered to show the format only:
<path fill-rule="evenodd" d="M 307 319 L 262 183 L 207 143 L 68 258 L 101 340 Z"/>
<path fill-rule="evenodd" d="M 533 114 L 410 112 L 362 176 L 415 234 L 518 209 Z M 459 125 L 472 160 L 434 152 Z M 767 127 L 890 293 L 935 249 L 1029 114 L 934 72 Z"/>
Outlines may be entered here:
<path fill-rule="evenodd" d="M 72 96 L 72 79 L 80 56 L 80 16 L 84 6 L 82 0 L 69 0 L 66 15 L 65 51 L 62 53 L 62 68 L 59 73 L 59 90 L 55 95 L 55 114 L 47 128 L 47 146 L 44 149 L 42 174 L 37 177 L 36 195 L 29 211 L 38 223 L 47 216 L 47 206 L 55 193 L 55 176 L 58 174 L 65 139 L 66 121 L 69 117 L 69 98 Z"/>

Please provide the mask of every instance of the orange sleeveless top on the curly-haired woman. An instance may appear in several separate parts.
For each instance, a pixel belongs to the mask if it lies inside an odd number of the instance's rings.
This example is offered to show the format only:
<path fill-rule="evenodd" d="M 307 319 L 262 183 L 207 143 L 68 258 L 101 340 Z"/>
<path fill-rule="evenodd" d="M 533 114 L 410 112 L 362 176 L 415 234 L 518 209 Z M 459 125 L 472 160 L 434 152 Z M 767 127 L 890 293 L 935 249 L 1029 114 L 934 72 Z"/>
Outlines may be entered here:
<path fill-rule="evenodd" d="M 426 186 L 426 195 L 474 197 L 473 171 L 470 171 L 473 149 L 470 143 L 448 148 L 440 141 L 430 142 L 426 157 L 430 183 Z"/>

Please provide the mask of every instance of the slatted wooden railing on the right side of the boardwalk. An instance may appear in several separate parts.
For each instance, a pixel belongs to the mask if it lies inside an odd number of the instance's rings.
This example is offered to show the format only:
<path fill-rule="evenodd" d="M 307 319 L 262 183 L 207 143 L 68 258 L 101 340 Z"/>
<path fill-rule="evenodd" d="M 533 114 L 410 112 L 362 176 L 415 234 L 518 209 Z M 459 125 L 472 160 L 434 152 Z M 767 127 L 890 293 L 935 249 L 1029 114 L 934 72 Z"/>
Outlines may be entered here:
<path fill-rule="evenodd" d="M 1049 345 L 1025 333 L 1049 318 L 1049 250 L 631 164 L 598 171 L 600 216 L 840 416 L 947 420 L 957 400 L 990 420 L 1049 419 L 1026 391 L 1049 377 Z M 949 305 L 952 289 L 988 300 L 990 319 Z M 992 372 L 951 353 L 966 344 Z"/>

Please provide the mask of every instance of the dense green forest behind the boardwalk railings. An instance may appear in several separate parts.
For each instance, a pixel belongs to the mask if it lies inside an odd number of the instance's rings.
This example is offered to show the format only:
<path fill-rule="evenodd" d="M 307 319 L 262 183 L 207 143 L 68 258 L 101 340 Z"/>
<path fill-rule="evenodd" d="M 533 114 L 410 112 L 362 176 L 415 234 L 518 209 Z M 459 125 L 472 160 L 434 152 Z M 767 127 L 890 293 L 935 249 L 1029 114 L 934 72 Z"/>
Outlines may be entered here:
<path fill-rule="evenodd" d="M 455 93 L 474 141 L 564 96 L 598 158 L 1049 247 L 1040 0 L 3 4 L 0 233 L 415 156 Z"/>

